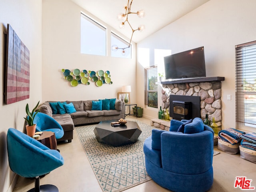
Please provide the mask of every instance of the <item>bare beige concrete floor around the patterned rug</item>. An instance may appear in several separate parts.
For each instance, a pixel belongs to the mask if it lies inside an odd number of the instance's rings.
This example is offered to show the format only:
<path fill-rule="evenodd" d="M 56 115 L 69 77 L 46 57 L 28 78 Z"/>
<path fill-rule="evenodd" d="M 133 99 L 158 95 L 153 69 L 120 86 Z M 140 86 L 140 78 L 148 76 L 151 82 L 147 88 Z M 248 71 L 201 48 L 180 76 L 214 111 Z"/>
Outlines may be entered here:
<path fill-rule="evenodd" d="M 126 119 L 136 120 L 132 116 L 127 116 Z M 150 120 L 146 118 L 138 118 L 138 120 L 150 124 Z M 58 149 L 64 158 L 64 165 L 41 178 L 41 185 L 53 184 L 60 192 L 102 192 L 75 131 L 72 142 L 58 144 Z M 219 151 L 216 147 L 214 150 Z M 234 188 L 237 176 L 246 176 L 247 179 L 252 180 L 251 186 L 256 187 L 256 164 L 240 158 L 239 154 L 219 152 L 220 154 L 213 157 L 214 182 L 210 192 L 241 192 L 240 188 Z M 34 180 L 19 177 L 13 191 L 24 192 L 33 187 Z M 124 192 L 168 191 L 150 180 Z"/>

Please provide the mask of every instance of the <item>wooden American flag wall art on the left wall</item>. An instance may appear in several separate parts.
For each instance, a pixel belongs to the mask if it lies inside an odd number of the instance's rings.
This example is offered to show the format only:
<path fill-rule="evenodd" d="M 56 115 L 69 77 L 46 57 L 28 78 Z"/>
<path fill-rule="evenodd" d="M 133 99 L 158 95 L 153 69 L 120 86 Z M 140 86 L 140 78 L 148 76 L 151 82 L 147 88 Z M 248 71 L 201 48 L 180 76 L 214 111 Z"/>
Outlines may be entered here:
<path fill-rule="evenodd" d="M 11 104 L 29 98 L 29 50 L 10 24 L 7 24 L 5 72 L 5 104 Z"/>

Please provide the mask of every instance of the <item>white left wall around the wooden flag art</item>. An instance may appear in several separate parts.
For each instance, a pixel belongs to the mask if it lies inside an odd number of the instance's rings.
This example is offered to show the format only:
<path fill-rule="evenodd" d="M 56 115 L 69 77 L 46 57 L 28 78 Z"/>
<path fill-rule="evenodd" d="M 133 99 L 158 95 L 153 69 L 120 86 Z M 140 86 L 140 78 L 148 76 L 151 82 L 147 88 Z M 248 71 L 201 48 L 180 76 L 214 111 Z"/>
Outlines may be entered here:
<path fill-rule="evenodd" d="M 0 0 L 0 66 L 1 90 L 4 90 L 4 31 L 10 24 L 30 51 L 30 98 L 13 104 L 4 104 L 0 94 L 0 191 L 12 191 L 14 173 L 8 164 L 6 133 L 8 128 L 23 130 L 25 106 L 35 106 L 42 100 L 42 0 Z M 12 186 L 10 186 L 12 184 Z"/>

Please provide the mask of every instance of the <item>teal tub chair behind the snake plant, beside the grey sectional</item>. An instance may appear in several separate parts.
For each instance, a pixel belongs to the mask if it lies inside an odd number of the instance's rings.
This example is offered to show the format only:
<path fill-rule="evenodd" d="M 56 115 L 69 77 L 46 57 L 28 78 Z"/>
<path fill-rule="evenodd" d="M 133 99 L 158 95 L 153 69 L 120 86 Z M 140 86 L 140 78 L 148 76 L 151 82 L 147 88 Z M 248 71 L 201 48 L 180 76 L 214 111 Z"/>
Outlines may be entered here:
<path fill-rule="evenodd" d="M 34 118 L 36 124 L 36 131 L 52 131 L 55 133 L 56 139 L 60 139 L 64 135 L 62 126 L 52 117 L 38 112 Z"/>

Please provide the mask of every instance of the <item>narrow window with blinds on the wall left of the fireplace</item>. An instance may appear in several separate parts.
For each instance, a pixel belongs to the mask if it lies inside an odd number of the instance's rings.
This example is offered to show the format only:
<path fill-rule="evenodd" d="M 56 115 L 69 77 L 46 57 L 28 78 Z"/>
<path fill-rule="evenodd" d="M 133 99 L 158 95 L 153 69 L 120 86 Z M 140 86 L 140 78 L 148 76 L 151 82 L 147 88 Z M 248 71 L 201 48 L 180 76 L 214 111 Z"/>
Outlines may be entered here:
<path fill-rule="evenodd" d="M 158 107 L 157 99 L 157 66 L 149 67 L 144 69 L 145 78 L 145 104 L 149 107 Z"/>

